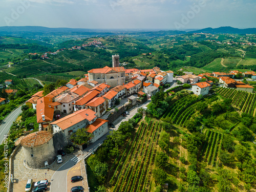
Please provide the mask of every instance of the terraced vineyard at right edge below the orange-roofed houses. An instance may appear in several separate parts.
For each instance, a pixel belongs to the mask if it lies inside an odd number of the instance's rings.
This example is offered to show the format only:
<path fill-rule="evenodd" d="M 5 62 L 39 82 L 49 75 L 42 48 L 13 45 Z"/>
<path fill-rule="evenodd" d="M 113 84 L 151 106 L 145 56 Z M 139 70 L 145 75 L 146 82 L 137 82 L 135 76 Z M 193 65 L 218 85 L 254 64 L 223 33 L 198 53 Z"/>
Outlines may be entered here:
<path fill-rule="evenodd" d="M 232 105 L 241 112 L 255 116 L 256 94 L 232 88 L 220 88 L 217 93 L 226 99 L 232 99 Z"/>

